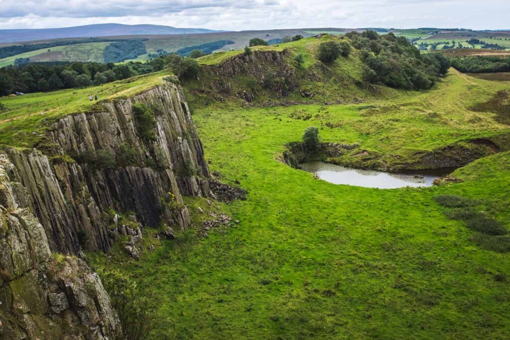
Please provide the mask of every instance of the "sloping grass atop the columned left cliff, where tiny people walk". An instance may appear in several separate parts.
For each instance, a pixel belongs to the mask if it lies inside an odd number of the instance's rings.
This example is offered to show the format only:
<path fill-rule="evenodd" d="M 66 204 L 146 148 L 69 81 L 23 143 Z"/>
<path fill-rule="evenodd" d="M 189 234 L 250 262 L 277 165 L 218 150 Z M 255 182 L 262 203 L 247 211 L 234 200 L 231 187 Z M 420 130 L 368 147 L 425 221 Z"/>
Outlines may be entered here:
<path fill-rule="evenodd" d="M 166 74 L 161 71 L 83 89 L 0 97 L 7 107 L 6 112 L 0 113 L 0 144 L 32 147 L 41 140 L 43 130 L 59 117 L 92 110 L 97 102 L 89 101 L 90 94 L 97 94 L 99 101 L 130 96 L 159 84 Z"/>

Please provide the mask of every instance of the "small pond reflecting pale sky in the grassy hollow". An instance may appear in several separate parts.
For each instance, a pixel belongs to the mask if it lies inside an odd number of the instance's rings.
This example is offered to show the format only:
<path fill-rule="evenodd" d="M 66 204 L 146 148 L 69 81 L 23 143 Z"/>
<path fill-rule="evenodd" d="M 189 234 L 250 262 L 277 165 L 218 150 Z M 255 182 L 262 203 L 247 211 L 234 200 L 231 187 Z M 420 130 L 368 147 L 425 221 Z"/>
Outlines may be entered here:
<path fill-rule="evenodd" d="M 431 187 L 434 179 L 453 172 L 452 168 L 413 171 L 383 172 L 346 168 L 324 162 L 299 165 L 302 170 L 316 174 L 333 184 L 365 188 L 395 189 L 404 187 Z"/>

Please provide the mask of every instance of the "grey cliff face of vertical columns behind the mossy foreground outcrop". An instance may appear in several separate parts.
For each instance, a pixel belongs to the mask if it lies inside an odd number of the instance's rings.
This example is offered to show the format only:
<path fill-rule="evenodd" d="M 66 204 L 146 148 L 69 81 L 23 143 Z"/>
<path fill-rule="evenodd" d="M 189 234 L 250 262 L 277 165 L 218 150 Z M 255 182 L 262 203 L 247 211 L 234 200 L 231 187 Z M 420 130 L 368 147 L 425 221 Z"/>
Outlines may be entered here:
<path fill-rule="evenodd" d="M 150 141 L 140 136 L 136 103 L 155 116 Z M 143 225 L 165 222 L 185 228 L 189 213 L 182 195 L 209 194 L 202 146 L 175 85 L 66 116 L 52 126 L 48 139 L 58 155 L 52 159 L 37 150 L 11 149 L 6 155 L 12 163 L 9 178 L 17 183 L 15 201 L 32 208 L 52 250 L 107 250 L 116 238 L 105 214 L 110 209 L 133 212 Z M 68 155 L 77 162 L 65 161 Z M 168 193 L 175 196 L 172 207 L 162 203 Z"/>

